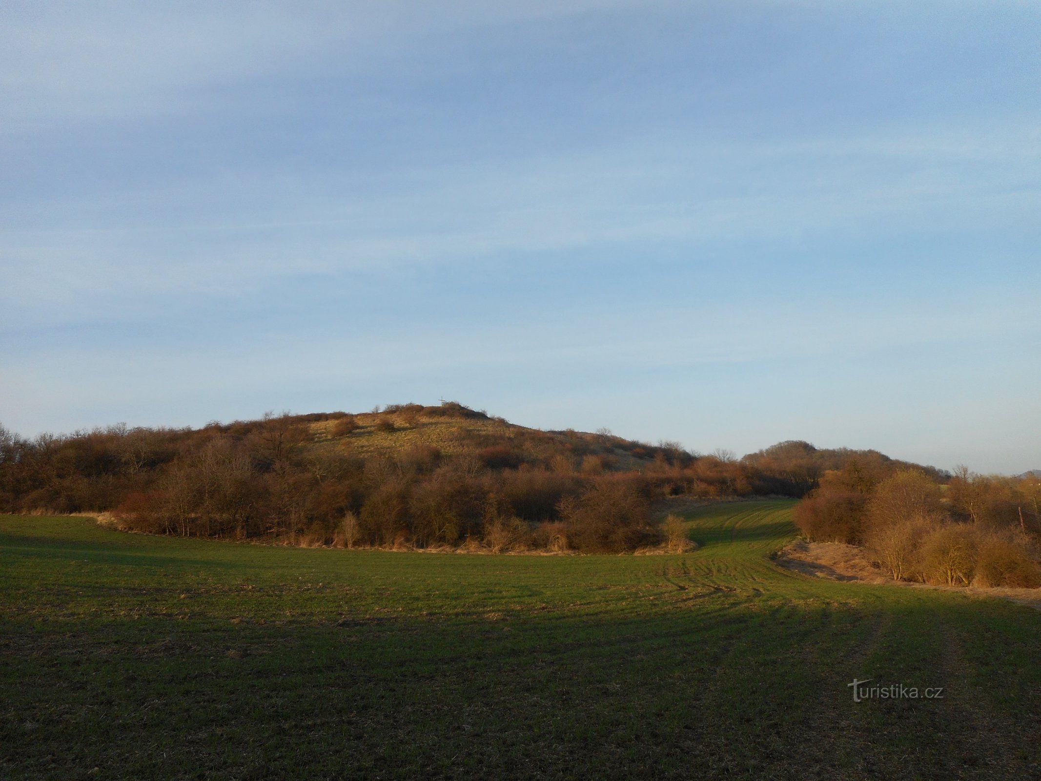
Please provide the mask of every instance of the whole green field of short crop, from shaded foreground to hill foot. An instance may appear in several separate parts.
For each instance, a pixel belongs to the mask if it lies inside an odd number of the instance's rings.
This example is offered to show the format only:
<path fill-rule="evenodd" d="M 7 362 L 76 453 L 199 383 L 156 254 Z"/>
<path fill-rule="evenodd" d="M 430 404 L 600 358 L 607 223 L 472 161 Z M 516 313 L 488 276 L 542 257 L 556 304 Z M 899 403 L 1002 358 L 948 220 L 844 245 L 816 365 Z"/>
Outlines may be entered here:
<path fill-rule="evenodd" d="M 0 778 L 1041 777 L 1041 613 L 782 570 L 790 507 L 669 556 L 0 517 Z"/>

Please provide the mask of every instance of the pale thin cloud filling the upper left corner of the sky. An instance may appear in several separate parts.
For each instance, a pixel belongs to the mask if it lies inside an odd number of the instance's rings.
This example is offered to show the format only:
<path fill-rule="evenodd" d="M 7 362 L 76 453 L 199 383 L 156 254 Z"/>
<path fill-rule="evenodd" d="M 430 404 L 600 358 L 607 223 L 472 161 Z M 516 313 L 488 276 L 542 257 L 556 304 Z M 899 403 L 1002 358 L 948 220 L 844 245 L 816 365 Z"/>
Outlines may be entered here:
<path fill-rule="evenodd" d="M 609 0 L 416 4 L 370 2 L 8 3 L 0 28 L 0 129 L 50 122 L 177 116 L 227 89 L 279 74 L 366 71 L 416 40 L 623 6 Z M 200 101 L 206 101 L 201 103 Z"/>

